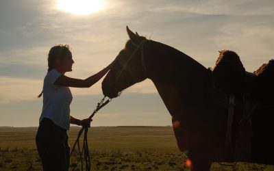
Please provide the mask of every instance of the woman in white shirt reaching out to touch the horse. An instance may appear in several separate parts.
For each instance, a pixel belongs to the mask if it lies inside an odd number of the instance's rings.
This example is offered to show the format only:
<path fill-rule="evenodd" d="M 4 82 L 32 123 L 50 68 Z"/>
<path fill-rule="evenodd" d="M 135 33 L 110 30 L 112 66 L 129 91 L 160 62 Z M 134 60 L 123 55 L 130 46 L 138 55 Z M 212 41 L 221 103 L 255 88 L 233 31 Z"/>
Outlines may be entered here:
<path fill-rule="evenodd" d="M 108 70 L 107 66 L 87 79 L 66 77 L 74 64 L 69 45 L 52 47 L 48 57 L 48 73 L 44 79 L 42 114 L 36 134 L 36 146 L 43 170 L 69 170 L 70 148 L 68 135 L 70 124 L 90 127 L 91 120 L 79 120 L 70 115 L 72 94 L 69 87 L 89 88 L 97 83 Z"/>

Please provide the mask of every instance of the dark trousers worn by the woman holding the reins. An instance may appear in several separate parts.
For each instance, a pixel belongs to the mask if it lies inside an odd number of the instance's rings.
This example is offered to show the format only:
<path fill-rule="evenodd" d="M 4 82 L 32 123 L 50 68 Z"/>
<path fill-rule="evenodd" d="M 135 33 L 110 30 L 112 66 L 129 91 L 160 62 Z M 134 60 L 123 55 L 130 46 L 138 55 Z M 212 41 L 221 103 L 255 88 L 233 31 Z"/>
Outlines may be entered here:
<path fill-rule="evenodd" d="M 58 127 L 48 118 L 42 119 L 36 134 L 36 146 L 44 171 L 69 170 L 68 139 L 65 129 Z"/>

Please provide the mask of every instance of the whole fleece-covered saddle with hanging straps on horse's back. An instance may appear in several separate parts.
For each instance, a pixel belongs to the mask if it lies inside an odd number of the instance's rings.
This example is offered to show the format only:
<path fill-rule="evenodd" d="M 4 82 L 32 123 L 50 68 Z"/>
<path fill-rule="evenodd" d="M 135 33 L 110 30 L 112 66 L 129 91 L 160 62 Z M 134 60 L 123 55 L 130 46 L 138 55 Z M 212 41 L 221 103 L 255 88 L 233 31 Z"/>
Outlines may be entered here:
<path fill-rule="evenodd" d="M 236 161 L 252 161 L 258 154 L 252 154 L 251 148 L 262 148 L 260 140 L 267 137 L 265 134 L 269 131 L 265 120 L 269 124 L 273 119 L 274 60 L 249 73 L 235 52 L 219 53 L 216 66 L 210 69 L 209 98 L 214 105 L 228 111 L 225 146 L 234 150 Z M 240 114 L 234 114 L 237 106 L 242 107 Z M 232 128 L 232 122 L 236 129 Z"/>

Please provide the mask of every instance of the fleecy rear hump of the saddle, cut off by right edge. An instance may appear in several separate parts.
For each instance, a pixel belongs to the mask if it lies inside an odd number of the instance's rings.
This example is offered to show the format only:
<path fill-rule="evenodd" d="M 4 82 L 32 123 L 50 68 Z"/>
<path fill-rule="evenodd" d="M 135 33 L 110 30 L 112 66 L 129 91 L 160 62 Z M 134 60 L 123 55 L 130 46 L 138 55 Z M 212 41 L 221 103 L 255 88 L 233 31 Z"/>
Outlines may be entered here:
<path fill-rule="evenodd" d="M 274 60 L 270 60 L 268 64 L 262 64 L 254 74 L 257 75 L 257 77 L 253 87 L 253 98 L 259 101 L 273 101 Z"/>

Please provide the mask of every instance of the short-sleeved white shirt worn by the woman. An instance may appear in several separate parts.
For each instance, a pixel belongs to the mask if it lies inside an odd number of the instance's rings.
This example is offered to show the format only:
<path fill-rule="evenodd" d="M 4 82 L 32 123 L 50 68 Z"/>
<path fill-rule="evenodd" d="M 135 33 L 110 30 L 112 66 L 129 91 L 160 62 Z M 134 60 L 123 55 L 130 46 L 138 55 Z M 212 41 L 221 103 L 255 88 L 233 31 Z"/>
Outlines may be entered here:
<path fill-rule="evenodd" d="M 44 79 L 43 107 L 39 122 L 42 118 L 49 118 L 59 127 L 69 130 L 71 120 L 69 105 L 73 97 L 69 87 L 54 85 L 60 75 L 62 73 L 52 69 Z"/>

